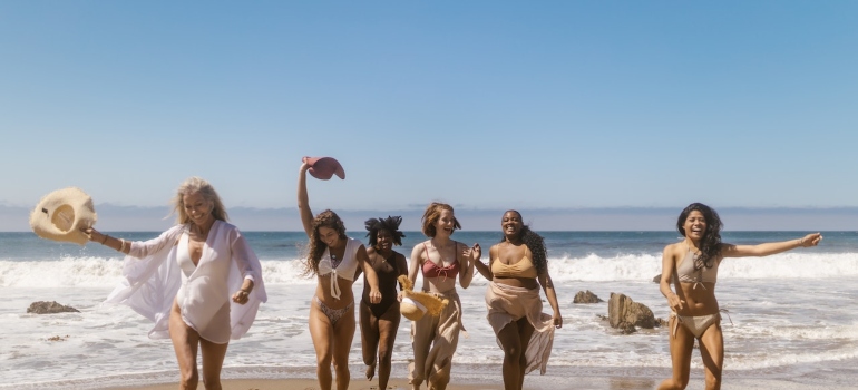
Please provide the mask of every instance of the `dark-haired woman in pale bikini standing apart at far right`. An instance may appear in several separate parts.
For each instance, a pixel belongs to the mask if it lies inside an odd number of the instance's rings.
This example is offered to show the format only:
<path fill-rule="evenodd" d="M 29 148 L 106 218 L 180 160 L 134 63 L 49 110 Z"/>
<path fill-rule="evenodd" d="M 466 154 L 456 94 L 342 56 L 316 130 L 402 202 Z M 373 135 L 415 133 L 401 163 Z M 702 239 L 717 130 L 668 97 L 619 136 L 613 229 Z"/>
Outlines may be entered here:
<path fill-rule="evenodd" d="M 701 203 L 685 207 L 676 221 L 684 240 L 664 247 L 661 292 L 672 310 L 670 349 L 673 377 L 660 390 L 685 389 L 689 384 L 694 339 L 706 374 L 706 389 L 721 389 L 724 340 L 715 299 L 718 267 L 724 257 L 768 256 L 797 247 L 816 246 L 819 233 L 801 238 L 759 245 L 731 245 L 721 242 L 721 220 L 714 209 Z M 671 290 L 671 282 L 675 293 Z"/>

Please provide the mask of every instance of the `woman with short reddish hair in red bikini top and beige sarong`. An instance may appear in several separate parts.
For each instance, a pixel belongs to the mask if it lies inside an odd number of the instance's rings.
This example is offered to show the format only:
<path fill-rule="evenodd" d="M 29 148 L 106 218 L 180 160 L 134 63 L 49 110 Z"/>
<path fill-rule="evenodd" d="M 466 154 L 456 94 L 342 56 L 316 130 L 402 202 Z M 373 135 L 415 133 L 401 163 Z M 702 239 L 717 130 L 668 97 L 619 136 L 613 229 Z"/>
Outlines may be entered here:
<path fill-rule="evenodd" d="M 450 235 L 461 225 L 454 215 L 452 207 L 443 203 L 432 203 L 422 217 L 422 232 L 430 237 L 415 246 L 408 277 L 417 281 L 418 272 L 423 275 L 423 291 L 447 299 L 449 303 L 440 315 L 423 315 L 411 323 L 411 345 L 415 361 L 409 364 L 408 379 L 412 389 L 427 388 L 443 390 L 450 382 L 452 354 L 459 342 L 461 325 L 461 302 L 456 293 L 456 279 L 462 289 L 470 285 L 474 277 L 474 262 L 481 254 L 479 244 L 468 247 L 450 240 Z"/>

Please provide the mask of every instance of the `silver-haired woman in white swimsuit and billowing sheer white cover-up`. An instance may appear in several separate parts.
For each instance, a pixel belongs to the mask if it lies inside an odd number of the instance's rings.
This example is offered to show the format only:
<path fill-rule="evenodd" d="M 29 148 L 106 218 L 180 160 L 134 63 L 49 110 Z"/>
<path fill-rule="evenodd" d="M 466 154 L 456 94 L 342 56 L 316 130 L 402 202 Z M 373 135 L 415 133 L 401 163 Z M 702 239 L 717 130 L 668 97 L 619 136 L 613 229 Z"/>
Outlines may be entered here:
<path fill-rule="evenodd" d="M 127 254 L 123 283 L 107 303 L 127 304 L 155 321 L 149 338 L 173 340 L 179 389 L 221 389 L 230 339 L 241 338 L 265 302 L 262 267 L 208 182 L 191 177 L 173 199 L 178 224 L 157 238 L 128 242 L 85 230 L 89 240 Z"/>

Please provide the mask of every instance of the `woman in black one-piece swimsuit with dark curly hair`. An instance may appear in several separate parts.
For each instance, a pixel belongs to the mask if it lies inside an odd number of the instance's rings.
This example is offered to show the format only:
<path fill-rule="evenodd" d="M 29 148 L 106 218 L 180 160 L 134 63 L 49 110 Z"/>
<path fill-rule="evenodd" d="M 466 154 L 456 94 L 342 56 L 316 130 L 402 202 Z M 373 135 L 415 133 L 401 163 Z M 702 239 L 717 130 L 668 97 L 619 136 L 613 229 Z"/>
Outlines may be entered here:
<path fill-rule="evenodd" d="M 367 265 L 376 271 L 379 280 L 381 302 L 370 302 L 370 286 L 363 279 L 363 299 L 360 303 L 361 347 L 363 363 L 367 364 L 367 379 L 376 376 L 376 363 L 379 368 L 379 389 L 388 388 L 390 379 L 390 362 L 393 342 L 399 329 L 399 301 L 397 299 L 397 279 L 408 275 L 406 256 L 393 251 L 393 245 L 402 245 L 406 235 L 399 231 L 402 223 L 400 216 L 387 218 L 369 218 L 365 222 L 369 248 Z M 360 274 L 358 270 L 358 274 Z"/>

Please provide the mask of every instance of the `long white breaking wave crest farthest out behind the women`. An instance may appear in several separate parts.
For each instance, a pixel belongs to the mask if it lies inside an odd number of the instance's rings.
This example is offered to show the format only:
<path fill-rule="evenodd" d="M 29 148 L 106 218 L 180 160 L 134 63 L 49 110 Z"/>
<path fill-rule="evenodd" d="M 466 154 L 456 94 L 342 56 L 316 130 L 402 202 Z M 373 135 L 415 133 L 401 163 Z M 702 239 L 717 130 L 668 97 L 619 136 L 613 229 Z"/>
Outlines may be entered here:
<path fill-rule="evenodd" d="M 484 259 L 484 261 L 486 261 Z M 263 260 L 266 284 L 314 284 L 302 275 L 303 261 Z M 661 274 L 661 255 L 628 254 L 548 260 L 556 282 L 647 281 Z M 0 286 L 110 287 L 121 280 L 123 261 L 97 256 L 60 260 L 0 261 Z M 768 257 L 727 259 L 719 269 L 729 279 L 826 279 L 858 276 L 858 253 L 784 253 Z M 480 276 L 476 276 L 478 282 Z M 360 281 L 359 281 L 360 283 Z"/>

